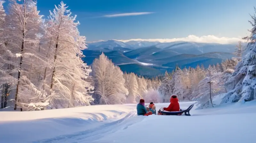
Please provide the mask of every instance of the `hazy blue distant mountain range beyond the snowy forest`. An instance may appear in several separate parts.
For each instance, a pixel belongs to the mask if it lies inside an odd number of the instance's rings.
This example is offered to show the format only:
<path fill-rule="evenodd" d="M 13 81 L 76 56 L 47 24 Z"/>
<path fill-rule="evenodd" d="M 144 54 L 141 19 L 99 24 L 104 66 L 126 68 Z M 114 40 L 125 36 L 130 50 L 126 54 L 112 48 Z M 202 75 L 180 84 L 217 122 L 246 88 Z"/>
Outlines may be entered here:
<path fill-rule="evenodd" d="M 143 76 L 155 76 L 171 72 L 178 65 L 180 68 L 196 67 L 203 64 L 221 63 L 234 57 L 232 52 L 236 44 L 196 43 L 175 41 L 168 43 L 150 41 L 108 40 L 87 43 L 83 50 L 84 62 L 92 64 L 102 52 L 123 72 L 134 72 Z"/>

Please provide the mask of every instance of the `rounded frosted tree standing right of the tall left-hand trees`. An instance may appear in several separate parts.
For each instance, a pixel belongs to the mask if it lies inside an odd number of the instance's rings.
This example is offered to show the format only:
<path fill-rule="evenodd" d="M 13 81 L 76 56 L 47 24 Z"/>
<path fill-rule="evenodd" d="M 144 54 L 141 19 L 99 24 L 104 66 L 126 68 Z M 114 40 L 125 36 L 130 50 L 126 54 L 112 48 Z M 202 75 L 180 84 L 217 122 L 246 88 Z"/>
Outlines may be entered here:
<path fill-rule="evenodd" d="M 92 64 L 95 104 L 122 104 L 128 90 L 124 87 L 123 72 L 103 53 Z M 135 79 L 136 80 L 136 79 Z"/>

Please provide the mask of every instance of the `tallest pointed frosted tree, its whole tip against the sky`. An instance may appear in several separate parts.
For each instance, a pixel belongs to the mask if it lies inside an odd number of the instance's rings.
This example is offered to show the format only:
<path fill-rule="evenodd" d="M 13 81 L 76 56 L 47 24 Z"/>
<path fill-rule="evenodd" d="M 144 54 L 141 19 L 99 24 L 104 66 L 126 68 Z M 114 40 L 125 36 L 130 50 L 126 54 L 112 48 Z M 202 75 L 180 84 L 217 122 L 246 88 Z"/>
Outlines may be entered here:
<path fill-rule="evenodd" d="M 50 12 L 48 36 L 53 44 L 52 74 L 47 97 L 53 108 L 67 108 L 76 105 L 90 105 L 93 98 L 88 95 L 93 87 L 86 81 L 90 67 L 81 60 L 85 49 L 85 37 L 80 36 L 68 6 L 63 2 Z M 73 103 L 76 102 L 76 103 Z"/>

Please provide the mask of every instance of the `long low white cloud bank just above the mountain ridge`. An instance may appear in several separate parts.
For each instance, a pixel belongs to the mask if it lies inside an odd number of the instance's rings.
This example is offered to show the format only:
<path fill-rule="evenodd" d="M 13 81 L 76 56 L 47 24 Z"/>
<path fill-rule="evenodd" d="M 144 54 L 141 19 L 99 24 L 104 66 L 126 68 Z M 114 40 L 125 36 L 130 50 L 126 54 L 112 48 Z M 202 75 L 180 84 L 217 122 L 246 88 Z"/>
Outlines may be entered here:
<path fill-rule="evenodd" d="M 188 37 L 183 38 L 172 38 L 172 39 L 129 39 L 129 40 L 118 40 L 123 42 L 128 41 L 152 41 L 152 42 L 174 42 L 174 41 L 188 41 L 188 42 L 199 42 L 199 43 L 219 43 L 219 44 L 231 44 L 237 43 L 238 41 L 242 40 L 242 37 L 216 37 L 214 35 L 207 35 L 207 36 L 196 36 L 196 35 L 188 35 Z"/>

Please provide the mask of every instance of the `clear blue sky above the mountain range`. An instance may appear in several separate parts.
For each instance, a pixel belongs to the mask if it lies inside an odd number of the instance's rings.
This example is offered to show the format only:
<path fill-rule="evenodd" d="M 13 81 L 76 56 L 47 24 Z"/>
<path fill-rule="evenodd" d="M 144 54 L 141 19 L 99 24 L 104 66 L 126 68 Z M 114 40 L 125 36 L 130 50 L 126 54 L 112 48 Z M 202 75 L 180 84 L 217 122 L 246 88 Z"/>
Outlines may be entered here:
<path fill-rule="evenodd" d="M 60 0 L 37 0 L 41 14 L 49 15 Z M 248 34 L 255 0 L 64 0 L 87 41 L 172 39 L 196 35 L 239 37 Z M 104 17 L 131 12 L 137 16 Z"/>

